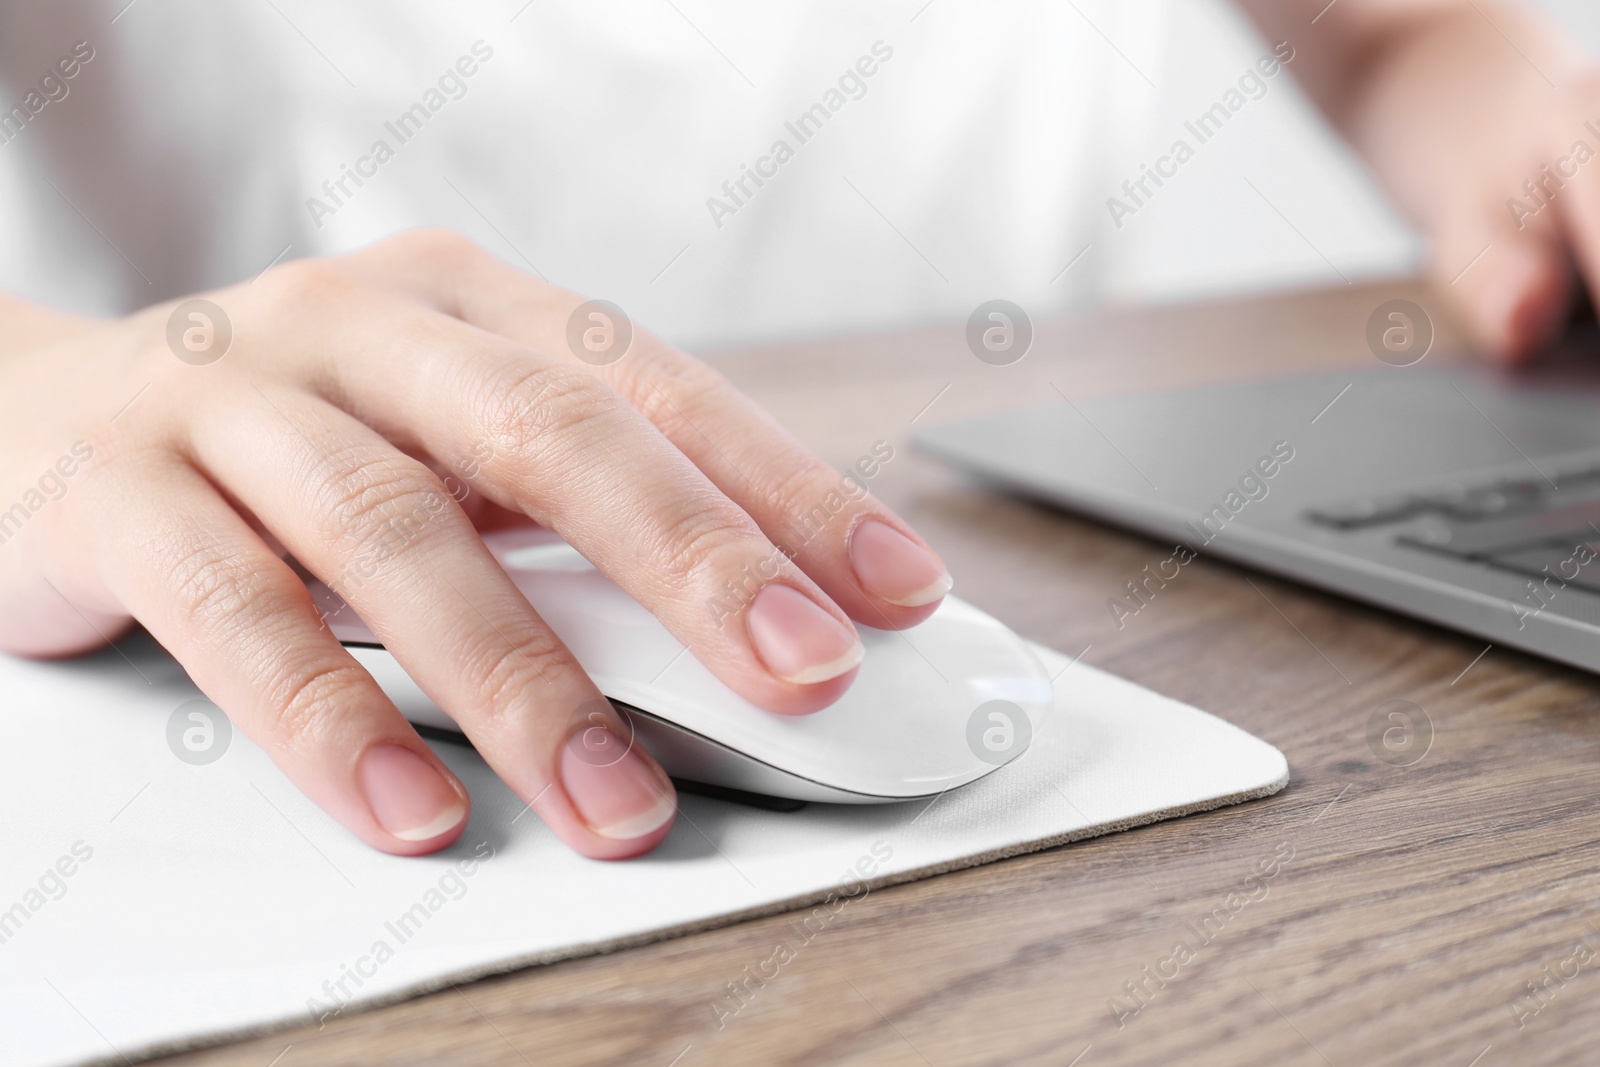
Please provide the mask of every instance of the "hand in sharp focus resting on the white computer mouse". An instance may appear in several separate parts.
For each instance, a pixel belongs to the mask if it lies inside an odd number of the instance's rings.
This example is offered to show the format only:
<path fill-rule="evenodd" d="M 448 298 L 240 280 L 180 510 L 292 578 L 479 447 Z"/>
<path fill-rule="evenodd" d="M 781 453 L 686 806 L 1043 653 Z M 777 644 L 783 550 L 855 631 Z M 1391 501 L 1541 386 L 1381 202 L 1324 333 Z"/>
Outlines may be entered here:
<path fill-rule="evenodd" d="M 450 845 L 469 798 L 285 552 L 568 845 L 605 859 L 666 837 L 672 784 L 638 747 L 582 758 L 587 715 L 606 705 L 475 520 L 555 530 L 718 678 L 784 713 L 850 686 L 851 619 L 912 625 L 950 585 L 872 498 L 838 510 L 838 474 L 718 374 L 642 331 L 626 354 L 570 346 L 578 296 L 454 234 L 291 262 L 205 299 L 222 315 L 0 304 L 18 323 L 0 352 L 0 648 L 66 656 L 138 619 L 384 851 Z M 442 474 L 470 488 L 466 507 Z M 832 518 L 792 542 L 824 501 Z"/>

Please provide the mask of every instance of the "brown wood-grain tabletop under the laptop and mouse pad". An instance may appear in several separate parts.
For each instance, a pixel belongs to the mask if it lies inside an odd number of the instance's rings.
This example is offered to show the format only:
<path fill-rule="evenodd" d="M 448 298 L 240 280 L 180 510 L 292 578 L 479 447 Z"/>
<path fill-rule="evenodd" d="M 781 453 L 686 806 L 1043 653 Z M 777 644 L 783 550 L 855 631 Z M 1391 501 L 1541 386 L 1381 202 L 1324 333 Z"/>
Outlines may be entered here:
<path fill-rule="evenodd" d="M 786 917 L 173 1062 L 266 1067 L 285 1045 L 277 1067 L 1600 1062 L 1600 681 L 1501 648 L 1475 659 L 1477 638 L 1253 576 L 1269 603 L 1205 558 L 1118 632 L 1107 598 L 1163 545 L 982 491 L 907 446 L 914 421 L 1038 403 L 1051 382 L 1080 398 L 1368 365 L 1366 317 L 1392 296 L 1442 306 L 1378 286 L 1104 314 L 1040 325 L 1006 368 L 973 358 L 958 325 L 714 357 L 837 464 L 890 440 L 874 491 L 960 595 L 1278 745 L 1294 777 L 1277 797 L 874 893 L 723 1030 L 710 1001 Z M 1429 358 L 1454 338 L 1435 320 Z M 1366 741 L 1397 697 L 1435 731 L 1410 768 Z M 1144 979 L 1286 849 L 1264 899 L 1165 987 Z M 1118 1025 L 1110 1000 L 1126 1009 L 1141 981 L 1155 992 Z"/>

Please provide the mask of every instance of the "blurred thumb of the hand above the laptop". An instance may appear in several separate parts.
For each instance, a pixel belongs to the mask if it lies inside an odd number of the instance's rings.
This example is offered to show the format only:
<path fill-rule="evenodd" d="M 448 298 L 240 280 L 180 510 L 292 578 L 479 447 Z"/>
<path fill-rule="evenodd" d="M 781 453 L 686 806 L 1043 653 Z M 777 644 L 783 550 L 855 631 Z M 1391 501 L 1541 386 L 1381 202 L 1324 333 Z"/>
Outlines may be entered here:
<path fill-rule="evenodd" d="M 1450 229 L 1435 235 L 1434 277 L 1478 347 L 1520 363 L 1554 341 L 1565 323 L 1573 269 L 1549 226 L 1518 229 L 1496 214 L 1453 213 Z"/>

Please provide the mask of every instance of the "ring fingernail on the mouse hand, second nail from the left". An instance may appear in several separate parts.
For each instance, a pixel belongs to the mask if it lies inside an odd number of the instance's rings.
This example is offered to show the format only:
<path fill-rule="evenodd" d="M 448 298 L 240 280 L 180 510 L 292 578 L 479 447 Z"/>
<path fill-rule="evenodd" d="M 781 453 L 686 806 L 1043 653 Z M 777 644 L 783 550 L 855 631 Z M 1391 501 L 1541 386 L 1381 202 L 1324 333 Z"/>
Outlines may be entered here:
<path fill-rule="evenodd" d="M 667 776 L 605 726 L 584 726 L 562 749 L 562 785 L 589 829 L 613 841 L 659 830 L 677 813 Z"/>

